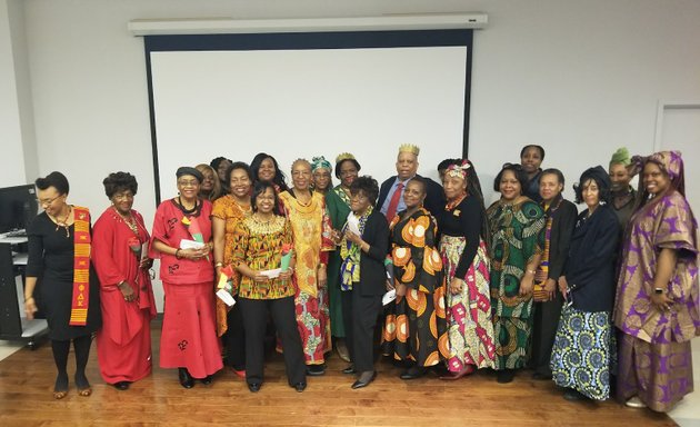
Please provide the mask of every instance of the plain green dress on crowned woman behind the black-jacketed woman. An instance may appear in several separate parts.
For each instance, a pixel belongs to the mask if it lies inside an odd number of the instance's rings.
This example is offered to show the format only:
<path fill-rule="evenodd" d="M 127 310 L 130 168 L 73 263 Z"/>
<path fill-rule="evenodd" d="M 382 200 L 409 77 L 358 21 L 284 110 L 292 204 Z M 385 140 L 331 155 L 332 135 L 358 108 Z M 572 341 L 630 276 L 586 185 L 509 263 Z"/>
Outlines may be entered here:
<path fill-rule="evenodd" d="M 333 229 L 341 230 L 350 214 L 350 198 L 342 188 L 337 186 L 326 193 L 326 207 Z M 342 322 L 342 306 L 340 302 L 340 251 L 333 250 L 328 259 L 328 292 L 330 295 L 331 335 L 343 338 L 346 327 Z"/>

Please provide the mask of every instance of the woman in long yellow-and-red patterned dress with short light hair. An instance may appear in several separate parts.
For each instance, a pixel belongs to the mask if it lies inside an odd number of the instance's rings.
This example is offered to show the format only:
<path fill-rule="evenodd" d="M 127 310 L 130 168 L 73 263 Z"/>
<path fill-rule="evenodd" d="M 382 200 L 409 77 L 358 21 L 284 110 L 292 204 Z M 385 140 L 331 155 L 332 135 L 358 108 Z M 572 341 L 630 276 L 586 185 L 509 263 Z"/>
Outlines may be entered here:
<path fill-rule="evenodd" d="M 323 375 L 323 354 L 331 350 L 328 307 L 328 251 L 333 250 L 330 219 L 323 196 L 311 191 L 311 165 L 292 163 L 293 187 L 280 193 L 292 229 L 297 254 L 297 326 L 307 361 L 308 375 Z"/>

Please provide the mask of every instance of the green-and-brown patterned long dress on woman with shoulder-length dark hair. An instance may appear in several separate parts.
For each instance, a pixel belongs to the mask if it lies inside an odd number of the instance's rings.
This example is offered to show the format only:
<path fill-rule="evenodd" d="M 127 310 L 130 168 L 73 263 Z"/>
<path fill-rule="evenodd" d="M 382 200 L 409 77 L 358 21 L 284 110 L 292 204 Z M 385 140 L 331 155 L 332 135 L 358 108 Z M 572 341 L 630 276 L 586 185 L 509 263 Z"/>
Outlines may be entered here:
<path fill-rule="evenodd" d="M 496 369 L 527 365 L 532 332 L 532 294 L 520 296 L 520 279 L 544 248 L 544 212 L 530 199 L 497 201 L 487 210 L 491 230 L 491 308 Z"/>

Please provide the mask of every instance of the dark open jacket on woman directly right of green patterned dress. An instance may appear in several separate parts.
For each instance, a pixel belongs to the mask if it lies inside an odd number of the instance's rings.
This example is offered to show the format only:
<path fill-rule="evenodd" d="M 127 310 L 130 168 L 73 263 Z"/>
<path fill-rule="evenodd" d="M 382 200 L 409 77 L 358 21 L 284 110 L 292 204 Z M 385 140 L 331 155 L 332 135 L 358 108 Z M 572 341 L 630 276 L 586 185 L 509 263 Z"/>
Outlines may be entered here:
<path fill-rule="evenodd" d="M 561 196 L 560 196 L 561 197 Z M 557 201 L 552 202 L 556 205 Z M 563 272 L 567 257 L 569 256 L 569 246 L 571 244 L 571 235 L 573 234 L 573 227 L 576 226 L 576 218 L 579 211 L 576 205 L 569 200 L 561 199 L 561 203 L 551 212 L 552 206 L 544 212 L 548 217 L 552 216 L 552 231 L 549 236 L 549 269 L 548 275 L 550 279 L 557 281 L 559 276 Z"/>

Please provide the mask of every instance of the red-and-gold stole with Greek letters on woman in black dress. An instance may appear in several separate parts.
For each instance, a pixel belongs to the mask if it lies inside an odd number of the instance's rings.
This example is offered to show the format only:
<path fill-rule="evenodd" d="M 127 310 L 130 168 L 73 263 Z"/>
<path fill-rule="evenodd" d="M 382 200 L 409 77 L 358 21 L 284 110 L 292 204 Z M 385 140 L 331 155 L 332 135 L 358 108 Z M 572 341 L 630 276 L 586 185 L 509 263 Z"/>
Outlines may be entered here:
<path fill-rule="evenodd" d="M 68 324 L 86 326 L 90 300 L 90 211 L 76 206 L 73 212 L 73 296 Z"/>

